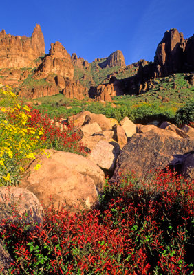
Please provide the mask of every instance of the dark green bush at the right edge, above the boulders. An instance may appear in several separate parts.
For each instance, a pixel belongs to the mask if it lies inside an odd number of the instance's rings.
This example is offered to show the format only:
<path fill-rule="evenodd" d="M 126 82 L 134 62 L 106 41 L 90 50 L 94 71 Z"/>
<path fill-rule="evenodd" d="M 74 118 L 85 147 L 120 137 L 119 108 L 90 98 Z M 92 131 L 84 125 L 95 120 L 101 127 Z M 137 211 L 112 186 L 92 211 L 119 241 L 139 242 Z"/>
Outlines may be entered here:
<path fill-rule="evenodd" d="M 183 126 L 194 121 L 194 101 L 186 103 L 175 115 L 175 124 Z"/>

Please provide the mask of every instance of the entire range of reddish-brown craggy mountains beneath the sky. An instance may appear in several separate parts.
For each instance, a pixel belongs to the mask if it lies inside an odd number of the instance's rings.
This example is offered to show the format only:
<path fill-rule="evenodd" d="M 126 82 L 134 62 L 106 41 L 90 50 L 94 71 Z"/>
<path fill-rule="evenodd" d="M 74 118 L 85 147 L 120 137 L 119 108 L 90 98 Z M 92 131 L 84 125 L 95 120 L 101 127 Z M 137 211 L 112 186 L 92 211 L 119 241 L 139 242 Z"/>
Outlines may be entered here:
<path fill-rule="evenodd" d="M 193 71 L 194 34 L 184 39 L 176 29 L 165 32 L 154 62 L 142 59 L 127 66 L 120 50 L 89 63 L 76 53 L 70 56 L 58 41 L 45 55 L 40 25 L 36 25 L 31 37 L 0 32 L 1 83 L 11 85 L 19 96 L 28 98 L 61 92 L 69 98 L 89 96 L 96 101 L 111 101 L 113 96 L 149 91 L 155 78 Z M 188 78 L 193 85 L 193 74 Z"/>

